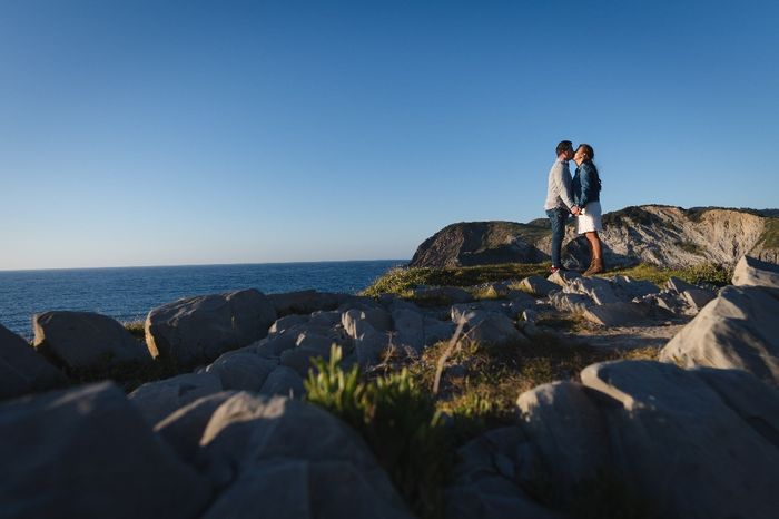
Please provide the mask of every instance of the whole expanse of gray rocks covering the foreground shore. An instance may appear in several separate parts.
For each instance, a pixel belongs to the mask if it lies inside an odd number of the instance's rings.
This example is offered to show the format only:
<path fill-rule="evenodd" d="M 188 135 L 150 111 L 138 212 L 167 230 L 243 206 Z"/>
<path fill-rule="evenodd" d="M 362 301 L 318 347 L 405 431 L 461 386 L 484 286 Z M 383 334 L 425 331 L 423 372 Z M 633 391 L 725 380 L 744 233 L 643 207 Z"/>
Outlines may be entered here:
<path fill-rule="evenodd" d="M 576 380 L 517 392 L 514 423 L 457 448 L 443 505 L 427 517 L 583 517 L 575 503 L 613 481 L 620 491 L 600 517 L 775 517 L 776 264 L 745 256 L 719 292 L 572 273 L 484 288 L 494 297 L 418 287 L 420 301 L 446 302 L 425 306 L 314 291 L 190 297 L 152 310 L 144 341 L 83 312 L 36 315 L 33 347 L 0 326 L 0 509 L 411 517 L 365 440 L 306 401 L 312 360 L 337 345 L 345 370 L 366 372 L 388 352 L 413 361 L 453 335 L 513 347 L 552 333 L 541 317 L 553 314 L 605 330 L 673 322 L 681 331 L 661 362 L 596 363 Z M 66 386 L 82 370 L 160 361 L 183 372 L 127 395 L 111 382 Z"/>

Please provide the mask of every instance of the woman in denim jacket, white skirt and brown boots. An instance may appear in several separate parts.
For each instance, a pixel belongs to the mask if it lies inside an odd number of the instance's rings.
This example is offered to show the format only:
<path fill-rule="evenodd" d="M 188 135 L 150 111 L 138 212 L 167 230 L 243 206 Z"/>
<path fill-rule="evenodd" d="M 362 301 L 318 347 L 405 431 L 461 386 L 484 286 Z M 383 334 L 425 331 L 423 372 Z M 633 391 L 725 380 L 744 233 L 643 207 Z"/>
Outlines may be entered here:
<path fill-rule="evenodd" d="M 601 178 L 598 168 L 592 163 L 595 151 L 589 144 L 580 144 L 573 155 L 576 163 L 576 173 L 573 176 L 571 188 L 573 190 L 573 202 L 581 207 L 581 213 L 576 216 L 576 233 L 583 234 L 590 245 L 590 267 L 584 271 L 584 275 L 603 272 L 603 255 L 599 231 L 603 231 L 601 224 Z"/>

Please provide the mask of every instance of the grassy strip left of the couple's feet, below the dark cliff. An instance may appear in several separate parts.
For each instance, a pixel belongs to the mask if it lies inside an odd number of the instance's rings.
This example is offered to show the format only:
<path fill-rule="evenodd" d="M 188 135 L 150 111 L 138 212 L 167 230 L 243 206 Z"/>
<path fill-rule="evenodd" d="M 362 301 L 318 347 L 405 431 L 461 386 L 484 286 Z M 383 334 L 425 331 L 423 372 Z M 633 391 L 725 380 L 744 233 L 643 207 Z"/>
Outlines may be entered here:
<path fill-rule="evenodd" d="M 393 293 L 413 297 L 414 288 L 427 286 L 473 286 L 495 281 L 521 280 L 530 275 L 549 274 L 550 263 L 506 263 L 465 267 L 431 268 L 398 267 L 378 277 L 362 295 Z"/>

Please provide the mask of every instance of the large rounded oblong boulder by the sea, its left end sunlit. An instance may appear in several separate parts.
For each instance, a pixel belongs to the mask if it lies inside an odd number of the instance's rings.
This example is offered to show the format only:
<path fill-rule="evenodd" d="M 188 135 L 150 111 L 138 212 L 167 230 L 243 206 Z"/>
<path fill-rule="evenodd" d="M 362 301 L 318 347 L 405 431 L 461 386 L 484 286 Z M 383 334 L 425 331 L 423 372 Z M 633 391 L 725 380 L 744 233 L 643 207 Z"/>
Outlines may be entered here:
<path fill-rule="evenodd" d="M 273 303 L 254 288 L 187 297 L 149 313 L 146 343 L 154 356 L 188 364 L 258 341 L 275 321 Z"/>

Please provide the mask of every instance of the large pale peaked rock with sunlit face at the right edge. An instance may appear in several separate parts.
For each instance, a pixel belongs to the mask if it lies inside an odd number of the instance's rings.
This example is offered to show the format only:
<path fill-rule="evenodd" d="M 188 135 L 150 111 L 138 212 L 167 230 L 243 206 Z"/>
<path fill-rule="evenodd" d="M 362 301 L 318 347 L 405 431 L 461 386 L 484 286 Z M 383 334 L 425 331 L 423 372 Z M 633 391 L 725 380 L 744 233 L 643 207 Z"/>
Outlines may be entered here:
<path fill-rule="evenodd" d="M 779 290 L 727 286 L 660 351 L 689 368 L 732 368 L 779 384 Z"/>

